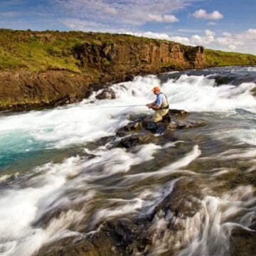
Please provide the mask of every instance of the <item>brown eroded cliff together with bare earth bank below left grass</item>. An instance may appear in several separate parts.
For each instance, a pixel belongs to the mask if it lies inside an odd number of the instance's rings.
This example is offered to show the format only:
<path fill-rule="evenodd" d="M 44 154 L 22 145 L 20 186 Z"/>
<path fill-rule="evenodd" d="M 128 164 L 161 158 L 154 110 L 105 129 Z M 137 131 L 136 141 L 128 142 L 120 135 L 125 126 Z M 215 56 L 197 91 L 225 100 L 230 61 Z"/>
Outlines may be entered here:
<path fill-rule="evenodd" d="M 134 75 L 205 68 L 203 51 L 201 46 L 153 39 L 78 43 L 72 54 L 80 63 L 80 74 L 66 70 L 0 71 L 0 110 L 76 102 L 90 95 L 94 85 L 131 80 Z"/>

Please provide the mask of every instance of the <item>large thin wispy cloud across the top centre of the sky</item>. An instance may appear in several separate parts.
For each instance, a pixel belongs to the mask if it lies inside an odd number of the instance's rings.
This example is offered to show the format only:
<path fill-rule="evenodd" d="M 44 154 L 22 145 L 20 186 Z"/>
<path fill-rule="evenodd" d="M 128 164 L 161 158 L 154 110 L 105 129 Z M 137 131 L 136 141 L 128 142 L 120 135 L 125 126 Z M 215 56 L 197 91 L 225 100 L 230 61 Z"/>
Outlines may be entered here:
<path fill-rule="evenodd" d="M 108 23 L 119 29 L 142 26 L 146 22 L 178 22 L 173 12 L 195 1 L 198 0 L 53 0 L 56 11 L 66 14 L 65 18 Z"/>

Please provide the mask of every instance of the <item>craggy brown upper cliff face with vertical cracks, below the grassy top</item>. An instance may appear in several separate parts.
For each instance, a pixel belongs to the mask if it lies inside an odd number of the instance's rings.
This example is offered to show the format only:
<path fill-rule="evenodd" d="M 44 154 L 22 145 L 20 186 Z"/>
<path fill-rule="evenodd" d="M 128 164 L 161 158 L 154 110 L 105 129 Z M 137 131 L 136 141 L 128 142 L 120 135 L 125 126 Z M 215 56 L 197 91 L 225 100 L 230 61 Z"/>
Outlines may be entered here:
<path fill-rule="evenodd" d="M 74 48 L 82 65 L 100 70 L 104 77 L 125 78 L 129 75 L 159 73 L 167 70 L 206 67 L 202 46 L 176 43 L 134 42 L 81 43 Z M 110 78 L 111 79 L 111 78 Z"/>

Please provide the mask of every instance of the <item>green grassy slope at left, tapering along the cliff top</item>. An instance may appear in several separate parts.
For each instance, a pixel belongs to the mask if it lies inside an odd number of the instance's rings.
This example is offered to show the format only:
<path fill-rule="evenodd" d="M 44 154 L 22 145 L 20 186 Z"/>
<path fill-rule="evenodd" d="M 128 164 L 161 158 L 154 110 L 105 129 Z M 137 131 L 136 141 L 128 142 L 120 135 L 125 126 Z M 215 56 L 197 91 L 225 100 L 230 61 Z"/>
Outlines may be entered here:
<path fill-rule="evenodd" d="M 80 43 L 111 44 L 159 41 L 136 36 L 81 31 L 13 31 L 0 29 L 0 70 L 68 70 L 81 73 L 73 50 Z M 85 70 L 83 70 L 85 71 Z"/>

